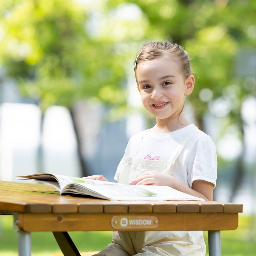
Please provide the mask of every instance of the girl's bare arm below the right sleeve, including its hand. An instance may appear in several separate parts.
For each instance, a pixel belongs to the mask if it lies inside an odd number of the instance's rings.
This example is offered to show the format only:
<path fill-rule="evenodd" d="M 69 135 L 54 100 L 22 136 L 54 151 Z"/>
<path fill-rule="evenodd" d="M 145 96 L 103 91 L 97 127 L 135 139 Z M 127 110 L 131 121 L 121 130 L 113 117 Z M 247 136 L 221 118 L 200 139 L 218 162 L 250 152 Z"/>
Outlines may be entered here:
<path fill-rule="evenodd" d="M 204 180 L 195 180 L 192 188 L 189 188 L 173 176 L 158 172 L 147 172 L 132 180 L 129 184 L 169 186 L 192 196 L 209 201 L 213 200 L 213 184 Z"/>

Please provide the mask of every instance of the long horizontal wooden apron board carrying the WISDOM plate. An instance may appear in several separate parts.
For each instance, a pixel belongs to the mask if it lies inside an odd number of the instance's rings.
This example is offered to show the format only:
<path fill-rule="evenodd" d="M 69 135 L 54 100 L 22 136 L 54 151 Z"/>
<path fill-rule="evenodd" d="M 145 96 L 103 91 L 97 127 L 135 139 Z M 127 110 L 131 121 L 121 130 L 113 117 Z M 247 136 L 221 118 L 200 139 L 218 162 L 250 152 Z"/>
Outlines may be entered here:
<path fill-rule="evenodd" d="M 117 215 L 127 217 L 127 213 L 20 213 L 18 215 L 18 226 L 24 231 L 118 230 L 111 226 L 111 219 Z M 129 216 L 132 215 L 129 214 Z M 159 220 L 159 226 L 157 228 L 142 228 L 140 230 L 233 230 L 238 225 L 238 213 L 176 212 L 161 214 L 136 213 L 135 215 L 136 217 L 140 215 L 141 218 L 143 216 L 154 216 Z"/>

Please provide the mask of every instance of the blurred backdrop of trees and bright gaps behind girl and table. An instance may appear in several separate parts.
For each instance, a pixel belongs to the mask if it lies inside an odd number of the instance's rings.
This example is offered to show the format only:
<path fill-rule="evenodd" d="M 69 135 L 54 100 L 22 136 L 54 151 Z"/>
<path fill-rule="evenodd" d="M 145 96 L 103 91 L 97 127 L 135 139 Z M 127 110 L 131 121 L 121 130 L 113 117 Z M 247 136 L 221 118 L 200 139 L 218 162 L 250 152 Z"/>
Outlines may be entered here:
<path fill-rule="evenodd" d="M 185 114 L 217 146 L 214 200 L 244 204 L 243 238 L 255 242 L 255 13 L 254 0 L 1 1 L 0 180 L 113 181 L 129 138 L 155 122 L 134 59 L 169 40 L 189 52 L 196 77 Z"/>

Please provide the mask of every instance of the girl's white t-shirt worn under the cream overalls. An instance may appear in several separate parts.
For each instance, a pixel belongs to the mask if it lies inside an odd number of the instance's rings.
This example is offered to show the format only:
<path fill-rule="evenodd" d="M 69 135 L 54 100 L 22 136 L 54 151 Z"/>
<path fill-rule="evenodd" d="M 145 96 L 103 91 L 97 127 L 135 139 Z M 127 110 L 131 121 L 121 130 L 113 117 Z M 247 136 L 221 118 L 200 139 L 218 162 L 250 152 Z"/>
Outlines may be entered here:
<path fill-rule="evenodd" d="M 189 132 L 194 132 L 195 129 L 199 131 L 194 124 L 189 124 L 174 132 L 156 133 L 153 127 L 143 135 L 136 157 L 153 161 L 169 160 L 177 143 Z M 124 157 L 117 167 L 115 180 L 117 180 L 122 161 L 132 155 L 131 145 L 135 136 L 132 136 L 127 144 Z M 214 187 L 216 186 L 217 155 L 216 147 L 210 136 L 204 132 L 198 132 L 192 136 L 176 159 L 172 176 L 189 188 L 192 187 L 194 180 L 205 180 L 211 182 Z"/>

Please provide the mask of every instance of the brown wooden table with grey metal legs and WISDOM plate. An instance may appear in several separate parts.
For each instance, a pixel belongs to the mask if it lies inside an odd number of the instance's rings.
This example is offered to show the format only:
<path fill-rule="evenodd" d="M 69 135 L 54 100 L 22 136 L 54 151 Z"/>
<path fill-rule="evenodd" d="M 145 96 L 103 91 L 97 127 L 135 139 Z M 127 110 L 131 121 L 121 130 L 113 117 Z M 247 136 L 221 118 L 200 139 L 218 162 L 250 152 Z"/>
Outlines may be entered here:
<path fill-rule="evenodd" d="M 220 256 L 220 230 L 238 226 L 242 204 L 211 201 L 108 201 L 60 196 L 52 186 L 0 181 L 0 214 L 13 215 L 19 256 L 31 255 L 33 231 L 52 231 L 64 255 L 80 255 L 67 231 L 208 230 Z M 137 224 L 136 225 L 136 221 Z"/>

